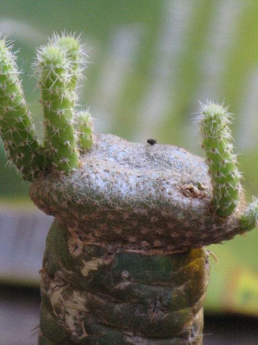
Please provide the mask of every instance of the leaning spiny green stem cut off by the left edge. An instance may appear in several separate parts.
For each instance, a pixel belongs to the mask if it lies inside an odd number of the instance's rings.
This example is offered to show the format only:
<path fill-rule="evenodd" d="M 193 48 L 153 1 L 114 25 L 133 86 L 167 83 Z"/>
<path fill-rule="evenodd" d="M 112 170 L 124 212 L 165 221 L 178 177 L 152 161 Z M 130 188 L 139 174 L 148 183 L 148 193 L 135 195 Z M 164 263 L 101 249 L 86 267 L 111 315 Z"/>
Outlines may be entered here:
<path fill-rule="evenodd" d="M 24 179 L 31 181 L 42 170 L 44 159 L 36 139 L 29 108 L 18 78 L 16 57 L 0 40 L 0 135 L 8 159 Z"/>

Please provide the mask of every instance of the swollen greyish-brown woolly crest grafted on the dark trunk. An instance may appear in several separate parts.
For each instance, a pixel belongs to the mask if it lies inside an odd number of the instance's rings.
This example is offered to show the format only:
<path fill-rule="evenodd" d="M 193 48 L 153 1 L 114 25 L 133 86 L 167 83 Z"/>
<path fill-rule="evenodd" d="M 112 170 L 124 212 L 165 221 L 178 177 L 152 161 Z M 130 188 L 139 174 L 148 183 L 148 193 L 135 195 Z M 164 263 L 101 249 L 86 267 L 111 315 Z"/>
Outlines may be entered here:
<path fill-rule="evenodd" d="M 82 167 L 70 176 L 46 171 L 30 198 L 89 242 L 129 248 L 185 250 L 241 233 L 245 202 L 226 219 L 212 207 L 207 166 L 181 147 L 94 137 Z"/>

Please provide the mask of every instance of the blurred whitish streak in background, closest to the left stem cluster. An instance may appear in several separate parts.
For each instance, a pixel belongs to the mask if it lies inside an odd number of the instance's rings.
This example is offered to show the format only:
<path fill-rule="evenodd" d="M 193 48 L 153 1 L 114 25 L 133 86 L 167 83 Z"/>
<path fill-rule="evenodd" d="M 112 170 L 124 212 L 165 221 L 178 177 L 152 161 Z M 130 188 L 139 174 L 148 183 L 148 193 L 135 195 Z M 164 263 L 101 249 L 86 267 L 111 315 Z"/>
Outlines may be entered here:
<path fill-rule="evenodd" d="M 94 104 L 91 104 L 94 113 L 98 114 L 98 132 L 109 131 L 112 122 L 115 122 L 113 110 L 120 90 L 133 69 L 143 32 L 142 25 L 131 24 L 120 27 L 112 36 L 108 56 L 103 59 L 99 89 L 95 93 L 97 98 Z"/>

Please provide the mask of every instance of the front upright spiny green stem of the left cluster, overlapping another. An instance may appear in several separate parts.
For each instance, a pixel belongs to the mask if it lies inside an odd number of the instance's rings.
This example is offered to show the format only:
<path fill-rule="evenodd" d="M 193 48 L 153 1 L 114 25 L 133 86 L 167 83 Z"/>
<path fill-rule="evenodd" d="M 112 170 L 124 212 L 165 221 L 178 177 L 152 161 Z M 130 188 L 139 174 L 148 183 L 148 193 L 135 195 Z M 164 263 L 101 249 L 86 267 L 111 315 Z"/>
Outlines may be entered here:
<path fill-rule="evenodd" d="M 38 50 L 37 60 L 47 156 L 58 170 L 69 173 L 79 167 L 70 59 L 63 49 L 49 44 Z"/>

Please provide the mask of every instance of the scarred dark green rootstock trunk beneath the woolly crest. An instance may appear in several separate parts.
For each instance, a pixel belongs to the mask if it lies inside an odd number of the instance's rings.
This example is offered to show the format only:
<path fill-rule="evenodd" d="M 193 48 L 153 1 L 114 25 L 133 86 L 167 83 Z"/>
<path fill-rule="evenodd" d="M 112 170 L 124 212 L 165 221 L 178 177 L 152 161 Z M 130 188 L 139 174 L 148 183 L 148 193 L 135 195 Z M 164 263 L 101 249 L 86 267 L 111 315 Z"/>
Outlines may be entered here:
<path fill-rule="evenodd" d="M 43 344 L 202 344 L 204 248 L 163 254 L 81 241 L 54 221 L 41 280 Z"/>

